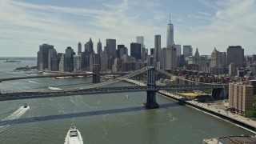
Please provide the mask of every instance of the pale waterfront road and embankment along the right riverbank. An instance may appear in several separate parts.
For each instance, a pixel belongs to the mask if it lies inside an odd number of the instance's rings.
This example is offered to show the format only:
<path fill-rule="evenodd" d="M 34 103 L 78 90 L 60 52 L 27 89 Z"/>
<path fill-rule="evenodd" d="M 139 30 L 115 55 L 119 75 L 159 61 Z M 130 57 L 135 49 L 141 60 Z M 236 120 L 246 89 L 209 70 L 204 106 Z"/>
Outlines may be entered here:
<path fill-rule="evenodd" d="M 131 79 L 125 79 L 125 81 L 136 84 L 138 86 L 146 86 L 144 83 L 141 83 L 141 82 L 138 82 L 135 80 L 131 80 Z M 215 110 L 214 108 L 207 106 L 207 104 L 202 103 L 202 102 L 194 102 L 194 100 L 185 101 L 180 96 L 175 96 L 174 94 L 170 94 L 170 93 L 162 91 L 162 90 L 158 91 L 157 93 L 165 98 L 170 98 L 170 99 L 180 103 L 181 105 L 190 106 L 194 110 L 199 110 L 205 114 L 209 114 L 215 118 L 219 118 L 225 122 L 229 122 L 230 124 L 233 124 L 234 126 L 238 126 L 244 130 L 247 130 L 250 133 L 256 134 L 256 121 L 250 120 L 248 118 L 244 118 L 238 114 L 230 114 L 224 110 L 218 110 L 218 109 Z M 246 121 L 248 121 L 248 122 L 246 122 Z"/>

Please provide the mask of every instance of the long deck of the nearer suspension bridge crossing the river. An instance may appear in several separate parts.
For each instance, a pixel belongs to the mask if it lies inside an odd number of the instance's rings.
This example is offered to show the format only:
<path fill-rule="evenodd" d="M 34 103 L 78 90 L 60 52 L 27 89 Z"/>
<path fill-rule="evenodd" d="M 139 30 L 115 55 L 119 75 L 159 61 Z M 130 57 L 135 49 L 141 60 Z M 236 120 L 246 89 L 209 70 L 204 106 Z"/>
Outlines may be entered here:
<path fill-rule="evenodd" d="M 193 86 L 123 86 L 123 87 L 97 87 L 90 89 L 78 89 L 78 90 L 47 90 L 38 92 L 20 92 L 0 94 L 0 101 L 26 99 L 26 98 L 48 98 L 48 97 L 60 97 L 70 96 L 78 94 L 107 94 L 107 93 L 124 93 L 124 92 L 136 92 L 136 91 L 158 91 L 158 90 L 202 90 L 202 89 L 217 89 L 222 88 L 218 85 L 193 85 Z"/>

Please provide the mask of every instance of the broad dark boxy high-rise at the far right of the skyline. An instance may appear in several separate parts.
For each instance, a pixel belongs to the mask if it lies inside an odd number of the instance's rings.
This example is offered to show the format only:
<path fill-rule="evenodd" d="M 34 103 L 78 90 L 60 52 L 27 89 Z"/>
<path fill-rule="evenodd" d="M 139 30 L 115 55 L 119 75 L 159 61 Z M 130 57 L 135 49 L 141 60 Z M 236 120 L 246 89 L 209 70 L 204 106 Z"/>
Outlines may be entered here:
<path fill-rule="evenodd" d="M 242 46 L 229 46 L 226 49 L 227 64 L 232 62 L 235 67 L 243 67 L 244 49 Z"/>

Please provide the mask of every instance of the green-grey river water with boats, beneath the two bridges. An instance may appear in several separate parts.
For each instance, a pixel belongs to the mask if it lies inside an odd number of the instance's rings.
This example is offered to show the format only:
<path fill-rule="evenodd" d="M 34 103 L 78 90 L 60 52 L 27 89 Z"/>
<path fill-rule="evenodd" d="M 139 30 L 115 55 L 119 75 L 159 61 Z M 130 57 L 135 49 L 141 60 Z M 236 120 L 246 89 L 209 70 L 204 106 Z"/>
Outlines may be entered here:
<path fill-rule="evenodd" d="M 36 61 L 0 61 L 0 78 L 33 74 L 14 71 L 26 65 L 35 66 Z M 34 78 L 1 82 L 0 90 L 54 90 L 90 84 L 91 78 Z M 200 144 L 203 138 L 253 135 L 160 95 L 157 96 L 159 109 L 146 110 L 142 106 L 145 101 L 146 92 L 134 92 L 0 102 L 0 143 L 66 143 L 70 126 L 77 126 L 82 141 L 90 144 Z M 24 103 L 28 108 L 22 107 Z"/>

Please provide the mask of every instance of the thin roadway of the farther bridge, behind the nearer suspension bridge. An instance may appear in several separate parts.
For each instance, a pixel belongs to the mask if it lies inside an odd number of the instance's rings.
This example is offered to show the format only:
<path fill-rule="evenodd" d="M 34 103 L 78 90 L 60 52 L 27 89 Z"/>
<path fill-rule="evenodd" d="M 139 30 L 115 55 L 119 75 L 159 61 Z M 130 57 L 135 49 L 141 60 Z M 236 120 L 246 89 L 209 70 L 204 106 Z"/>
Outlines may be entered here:
<path fill-rule="evenodd" d="M 100 75 L 125 75 L 129 74 L 128 72 L 122 73 L 100 73 Z M 29 78 L 57 78 L 57 77 L 77 77 L 77 76 L 89 76 L 94 75 L 91 74 L 46 74 L 46 75 L 34 75 L 34 76 L 27 76 L 27 77 L 15 77 L 15 78 L 0 78 L 0 82 L 3 81 L 11 81 L 11 80 L 18 80 L 18 79 L 29 79 Z"/>

